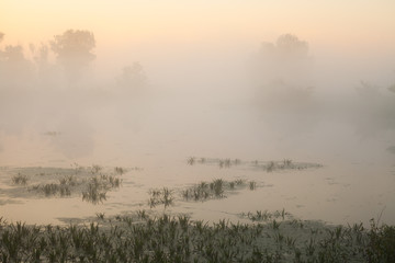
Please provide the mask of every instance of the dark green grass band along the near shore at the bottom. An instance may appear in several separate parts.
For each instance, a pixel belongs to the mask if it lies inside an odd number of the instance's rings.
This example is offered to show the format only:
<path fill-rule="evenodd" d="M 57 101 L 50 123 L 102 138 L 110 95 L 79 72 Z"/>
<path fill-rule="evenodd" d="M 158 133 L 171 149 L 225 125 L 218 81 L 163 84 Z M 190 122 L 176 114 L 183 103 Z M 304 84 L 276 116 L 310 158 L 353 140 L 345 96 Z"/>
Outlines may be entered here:
<path fill-rule="evenodd" d="M 372 221 L 368 230 L 257 215 L 253 224 L 208 224 L 144 210 L 103 214 L 88 226 L 2 221 L 0 262 L 395 262 L 393 226 Z"/>

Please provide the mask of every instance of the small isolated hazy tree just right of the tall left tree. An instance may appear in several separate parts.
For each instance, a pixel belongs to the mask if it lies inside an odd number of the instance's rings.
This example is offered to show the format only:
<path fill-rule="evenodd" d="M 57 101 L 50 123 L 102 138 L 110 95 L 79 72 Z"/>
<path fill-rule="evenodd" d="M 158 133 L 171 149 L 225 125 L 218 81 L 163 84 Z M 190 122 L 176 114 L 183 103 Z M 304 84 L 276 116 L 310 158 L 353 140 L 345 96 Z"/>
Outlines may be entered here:
<path fill-rule="evenodd" d="M 146 85 L 146 75 L 139 62 L 134 62 L 132 67 L 124 67 L 117 84 L 125 88 L 140 89 Z"/>

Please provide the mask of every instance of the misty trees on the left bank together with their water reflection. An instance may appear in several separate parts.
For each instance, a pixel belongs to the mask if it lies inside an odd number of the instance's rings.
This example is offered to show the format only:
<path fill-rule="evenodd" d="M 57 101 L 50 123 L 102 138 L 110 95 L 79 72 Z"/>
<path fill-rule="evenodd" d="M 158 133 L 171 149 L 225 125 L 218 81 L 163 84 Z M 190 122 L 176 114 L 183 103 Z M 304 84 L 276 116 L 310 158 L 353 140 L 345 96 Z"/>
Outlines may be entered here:
<path fill-rule="evenodd" d="M 89 31 L 68 30 L 29 48 L 5 39 L 0 33 L 0 151 L 3 136 L 22 140 L 27 134 L 47 137 L 65 156 L 87 156 L 95 129 L 133 115 L 139 102 L 128 99 L 147 87 L 143 66 L 133 60 L 119 75 L 97 81 L 97 42 Z"/>

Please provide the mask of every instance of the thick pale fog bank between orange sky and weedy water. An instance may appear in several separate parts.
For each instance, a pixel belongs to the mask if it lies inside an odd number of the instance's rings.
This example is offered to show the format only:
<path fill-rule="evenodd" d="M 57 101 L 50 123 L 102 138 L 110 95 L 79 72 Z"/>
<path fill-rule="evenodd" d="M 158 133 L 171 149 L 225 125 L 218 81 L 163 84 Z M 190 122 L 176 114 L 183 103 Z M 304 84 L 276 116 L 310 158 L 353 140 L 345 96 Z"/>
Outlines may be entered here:
<path fill-rule="evenodd" d="M 190 157 L 286 158 L 393 173 L 393 50 L 356 56 L 287 32 L 105 52 L 86 28 L 29 45 L 7 37 L 0 38 L 1 167 L 100 163 L 177 173 Z M 381 190 L 387 201 L 394 196 Z M 394 215 L 387 207 L 388 221 Z"/>

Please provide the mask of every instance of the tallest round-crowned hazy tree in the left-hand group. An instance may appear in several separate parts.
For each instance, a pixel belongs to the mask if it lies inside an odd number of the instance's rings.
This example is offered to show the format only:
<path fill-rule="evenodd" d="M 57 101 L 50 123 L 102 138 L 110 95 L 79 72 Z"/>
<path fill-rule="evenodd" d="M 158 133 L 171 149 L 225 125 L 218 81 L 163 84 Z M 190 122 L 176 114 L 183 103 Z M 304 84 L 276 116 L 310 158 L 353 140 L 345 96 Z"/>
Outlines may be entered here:
<path fill-rule="evenodd" d="M 50 48 L 64 67 L 69 82 L 76 82 L 81 77 L 82 69 L 94 60 L 94 36 L 89 31 L 68 30 L 61 35 L 54 36 L 54 41 L 50 42 Z"/>

